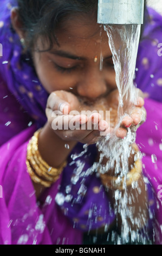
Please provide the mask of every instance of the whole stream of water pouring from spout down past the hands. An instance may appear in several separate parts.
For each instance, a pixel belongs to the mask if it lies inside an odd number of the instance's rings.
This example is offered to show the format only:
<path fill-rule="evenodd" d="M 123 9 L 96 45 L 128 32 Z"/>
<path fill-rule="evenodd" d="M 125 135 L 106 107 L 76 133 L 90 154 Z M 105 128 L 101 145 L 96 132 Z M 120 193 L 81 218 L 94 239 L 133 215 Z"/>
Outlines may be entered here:
<path fill-rule="evenodd" d="M 140 38 L 140 25 L 105 25 L 107 32 L 109 47 L 113 55 L 113 63 L 116 75 L 116 85 L 119 90 L 119 106 L 118 106 L 118 124 L 115 130 L 120 126 L 121 119 L 125 115 L 131 114 L 132 108 L 137 103 L 137 93 L 133 78 L 135 73 L 135 64 L 137 59 L 139 38 Z M 119 189 L 114 191 L 114 210 L 116 216 L 120 214 L 122 227 L 121 235 L 116 239 L 116 243 L 127 243 L 138 240 L 138 232 L 135 233 L 131 230 L 131 224 L 140 222 L 133 219 L 132 208 L 128 207 L 132 198 L 127 193 L 126 175 L 129 172 L 128 158 L 132 152 L 132 143 L 135 142 L 135 126 L 128 128 L 127 136 L 124 139 L 119 139 L 112 134 L 103 138 L 102 141 L 97 143 L 97 147 L 101 151 L 99 169 L 100 173 L 105 173 L 105 170 L 114 169 L 114 175 L 118 176 L 118 180 L 124 179 L 125 193 L 121 193 Z M 103 157 L 106 157 L 106 167 L 102 166 Z M 141 157 L 138 153 L 135 157 Z M 132 188 L 138 188 L 138 182 L 132 184 Z M 130 224 L 131 223 L 131 224 Z M 140 224 L 139 224 L 140 226 Z M 144 241 L 142 241 L 144 243 Z"/>

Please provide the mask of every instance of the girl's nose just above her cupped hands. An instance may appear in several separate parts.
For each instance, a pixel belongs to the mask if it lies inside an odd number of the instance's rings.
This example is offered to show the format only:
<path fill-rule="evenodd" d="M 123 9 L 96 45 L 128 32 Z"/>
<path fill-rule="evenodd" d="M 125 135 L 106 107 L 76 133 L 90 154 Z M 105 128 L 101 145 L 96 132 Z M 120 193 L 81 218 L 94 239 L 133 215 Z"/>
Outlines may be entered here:
<path fill-rule="evenodd" d="M 103 71 L 87 70 L 82 74 L 81 80 L 77 85 L 77 93 L 90 100 L 104 95 L 107 92 L 106 79 Z"/>

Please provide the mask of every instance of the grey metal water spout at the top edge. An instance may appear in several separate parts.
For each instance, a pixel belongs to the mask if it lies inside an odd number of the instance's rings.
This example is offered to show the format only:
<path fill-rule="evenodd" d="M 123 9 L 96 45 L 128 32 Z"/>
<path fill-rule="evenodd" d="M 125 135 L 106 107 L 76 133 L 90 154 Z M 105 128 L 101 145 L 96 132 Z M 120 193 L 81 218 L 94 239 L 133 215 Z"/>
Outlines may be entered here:
<path fill-rule="evenodd" d="M 98 23 L 100 24 L 142 24 L 144 0 L 99 0 Z"/>

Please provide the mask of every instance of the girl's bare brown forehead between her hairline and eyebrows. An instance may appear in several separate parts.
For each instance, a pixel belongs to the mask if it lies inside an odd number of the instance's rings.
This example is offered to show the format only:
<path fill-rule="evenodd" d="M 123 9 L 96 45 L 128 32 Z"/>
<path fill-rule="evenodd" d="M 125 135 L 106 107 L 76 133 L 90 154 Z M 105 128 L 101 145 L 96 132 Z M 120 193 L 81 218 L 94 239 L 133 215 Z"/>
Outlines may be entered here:
<path fill-rule="evenodd" d="M 57 41 L 60 47 L 104 47 L 108 46 L 108 36 L 103 25 L 96 23 L 95 19 L 87 16 L 72 16 L 61 23 L 56 30 Z"/>

